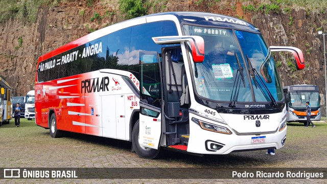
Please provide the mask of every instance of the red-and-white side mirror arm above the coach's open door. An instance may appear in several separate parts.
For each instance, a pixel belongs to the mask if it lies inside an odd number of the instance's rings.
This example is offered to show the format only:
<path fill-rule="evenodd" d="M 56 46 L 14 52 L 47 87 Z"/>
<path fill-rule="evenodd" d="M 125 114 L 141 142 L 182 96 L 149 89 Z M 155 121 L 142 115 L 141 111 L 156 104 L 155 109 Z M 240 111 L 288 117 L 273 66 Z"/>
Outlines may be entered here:
<path fill-rule="evenodd" d="M 203 62 L 204 60 L 204 40 L 201 36 L 161 36 L 153 37 L 157 44 L 181 43 L 189 41 L 191 43 L 192 57 L 194 62 Z"/>

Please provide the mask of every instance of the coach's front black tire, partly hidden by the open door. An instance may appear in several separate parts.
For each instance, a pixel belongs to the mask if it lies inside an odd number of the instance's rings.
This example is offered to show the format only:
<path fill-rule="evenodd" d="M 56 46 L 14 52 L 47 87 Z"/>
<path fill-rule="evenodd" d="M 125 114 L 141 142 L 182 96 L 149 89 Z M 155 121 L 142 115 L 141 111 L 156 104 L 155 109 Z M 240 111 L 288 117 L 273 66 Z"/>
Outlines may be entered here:
<path fill-rule="evenodd" d="M 132 131 L 132 145 L 136 154 L 141 158 L 154 159 L 159 156 L 160 148 L 158 150 L 151 148 L 144 148 L 138 143 L 139 121 L 134 125 Z"/>

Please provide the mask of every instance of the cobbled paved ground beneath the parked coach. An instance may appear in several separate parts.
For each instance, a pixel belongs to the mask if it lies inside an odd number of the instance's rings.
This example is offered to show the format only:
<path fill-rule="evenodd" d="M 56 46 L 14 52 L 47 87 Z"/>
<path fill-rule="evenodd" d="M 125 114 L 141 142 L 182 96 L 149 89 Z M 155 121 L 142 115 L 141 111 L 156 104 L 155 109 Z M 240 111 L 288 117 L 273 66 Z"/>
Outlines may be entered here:
<path fill-rule="evenodd" d="M 0 168 L 3 167 L 114 167 L 114 168 L 187 168 L 189 167 L 324 167 L 327 168 L 327 124 L 318 123 L 316 128 L 304 129 L 301 124 L 288 126 L 286 146 L 276 150 L 275 156 L 265 151 L 238 152 L 228 155 L 205 155 L 203 157 L 164 151 L 156 160 L 139 158 L 132 153 L 131 143 L 103 137 L 68 133 L 66 137 L 52 139 L 49 130 L 37 127 L 34 121 L 22 119 L 21 127 L 14 123 L 0 127 Z M 18 180 L 3 180 L 8 183 Z M 44 182 L 44 180 L 23 180 Z M 86 182 L 89 180 L 51 180 L 51 182 Z M 93 182 L 107 182 L 92 180 Z M 109 180 L 123 183 L 178 182 L 251 182 L 265 183 L 266 180 Z M 273 180 L 277 181 L 277 180 Z M 282 180 L 280 182 L 305 183 L 308 180 Z M 320 182 L 319 180 L 311 180 Z M 267 180 L 267 183 L 271 180 Z M 279 182 L 279 181 L 278 181 Z M 325 181 L 324 181 L 325 182 Z M 0 180 L 0 183 L 2 181 Z"/>

